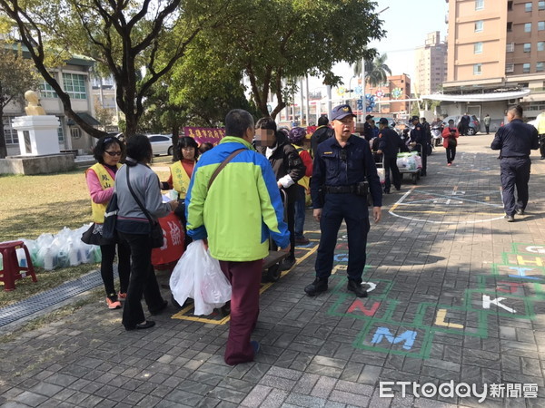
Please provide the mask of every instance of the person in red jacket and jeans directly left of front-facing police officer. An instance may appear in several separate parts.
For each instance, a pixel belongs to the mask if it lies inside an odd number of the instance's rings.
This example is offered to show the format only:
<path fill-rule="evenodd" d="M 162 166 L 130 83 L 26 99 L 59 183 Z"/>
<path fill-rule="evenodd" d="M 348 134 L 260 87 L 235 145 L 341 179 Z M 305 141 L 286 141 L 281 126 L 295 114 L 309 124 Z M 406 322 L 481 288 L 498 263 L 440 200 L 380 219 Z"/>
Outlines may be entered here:
<path fill-rule="evenodd" d="M 310 241 L 303 235 L 304 229 L 304 210 L 306 207 L 306 195 L 311 189 L 311 176 L 312 176 L 312 157 L 309 151 L 302 147 L 304 139 L 306 137 L 306 131 L 303 128 L 293 128 L 288 133 L 288 139 L 292 142 L 293 147 L 299 153 L 302 164 L 306 167 L 304 176 L 298 181 L 297 185 L 297 199 L 295 200 L 295 245 L 307 245 Z"/>

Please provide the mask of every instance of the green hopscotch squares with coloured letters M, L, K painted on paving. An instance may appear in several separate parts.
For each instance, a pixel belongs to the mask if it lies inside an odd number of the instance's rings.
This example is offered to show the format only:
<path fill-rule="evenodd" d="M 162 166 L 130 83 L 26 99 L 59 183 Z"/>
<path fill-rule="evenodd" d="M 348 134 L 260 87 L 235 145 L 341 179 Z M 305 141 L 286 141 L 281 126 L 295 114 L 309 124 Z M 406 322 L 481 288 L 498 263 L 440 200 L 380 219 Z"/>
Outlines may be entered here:
<path fill-rule="evenodd" d="M 342 263 L 346 257 L 338 254 L 336 259 Z M 346 265 L 335 269 L 341 272 Z M 425 359 L 437 333 L 486 338 L 489 316 L 531 321 L 536 308 L 545 311 L 545 245 L 512 244 L 512 250 L 502 254 L 501 263 L 492 264 L 491 274 L 478 275 L 476 287 L 464 290 L 462 306 L 407 305 L 389 297 L 393 281 L 372 277 L 364 283 L 369 297 L 354 300 L 353 294 L 346 293 L 346 279 L 342 278 L 334 289 L 337 300 L 328 311 L 331 316 L 352 316 L 364 322 L 353 346 Z"/>

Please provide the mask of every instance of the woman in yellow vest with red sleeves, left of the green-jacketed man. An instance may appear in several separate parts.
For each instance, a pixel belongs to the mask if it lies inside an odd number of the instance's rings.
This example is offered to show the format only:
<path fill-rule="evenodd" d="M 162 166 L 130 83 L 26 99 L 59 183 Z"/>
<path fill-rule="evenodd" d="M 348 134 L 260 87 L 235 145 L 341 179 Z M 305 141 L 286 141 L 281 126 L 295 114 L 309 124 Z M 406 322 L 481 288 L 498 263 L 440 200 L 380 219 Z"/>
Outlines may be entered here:
<path fill-rule="evenodd" d="M 181 220 L 183 230 L 187 224 L 185 219 L 185 195 L 189 188 L 189 180 L 193 174 L 193 168 L 197 157 L 199 157 L 199 145 L 189 136 L 183 136 L 178 141 L 178 157 L 180 160 L 171 164 L 171 175 L 167 181 L 163 181 L 162 189 L 174 189 L 178 193 L 178 208 L 175 209 L 176 214 Z M 185 246 L 191 242 L 191 238 L 185 234 Z"/>

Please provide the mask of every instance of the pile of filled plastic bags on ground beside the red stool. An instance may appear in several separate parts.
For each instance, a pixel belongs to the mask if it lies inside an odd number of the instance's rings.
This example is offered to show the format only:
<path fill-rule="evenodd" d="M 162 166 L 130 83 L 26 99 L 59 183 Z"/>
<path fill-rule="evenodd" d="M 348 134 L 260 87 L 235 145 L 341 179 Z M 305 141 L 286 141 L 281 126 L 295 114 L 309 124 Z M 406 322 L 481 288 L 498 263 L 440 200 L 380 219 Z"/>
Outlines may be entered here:
<path fill-rule="evenodd" d="M 55 235 L 42 234 L 37 239 L 18 239 L 25 242 L 32 263 L 35 267 L 53 270 L 57 267 L 75 267 L 80 264 L 93 264 L 101 261 L 100 247 L 82 242 L 82 234 L 91 224 L 81 228 L 64 227 Z M 26 258 L 23 248 L 17 249 L 19 265 L 25 266 Z"/>

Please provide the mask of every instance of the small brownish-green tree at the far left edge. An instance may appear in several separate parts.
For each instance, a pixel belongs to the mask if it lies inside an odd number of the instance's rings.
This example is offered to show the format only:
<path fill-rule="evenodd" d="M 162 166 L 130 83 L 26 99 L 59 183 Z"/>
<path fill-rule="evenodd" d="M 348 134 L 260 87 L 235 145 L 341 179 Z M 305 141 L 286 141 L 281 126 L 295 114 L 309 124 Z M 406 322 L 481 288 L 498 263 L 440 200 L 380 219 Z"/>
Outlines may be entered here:
<path fill-rule="evenodd" d="M 0 41 L 0 118 L 10 102 L 24 105 L 25 92 L 37 90 L 38 74 L 32 61 L 25 59 L 20 47 Z M 4 126 L 0 126 L 0 159 L 7 155 Z"/>

